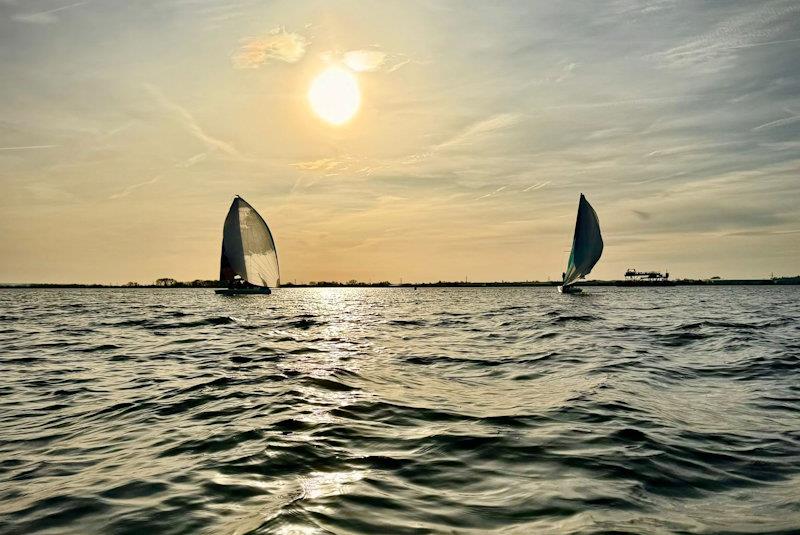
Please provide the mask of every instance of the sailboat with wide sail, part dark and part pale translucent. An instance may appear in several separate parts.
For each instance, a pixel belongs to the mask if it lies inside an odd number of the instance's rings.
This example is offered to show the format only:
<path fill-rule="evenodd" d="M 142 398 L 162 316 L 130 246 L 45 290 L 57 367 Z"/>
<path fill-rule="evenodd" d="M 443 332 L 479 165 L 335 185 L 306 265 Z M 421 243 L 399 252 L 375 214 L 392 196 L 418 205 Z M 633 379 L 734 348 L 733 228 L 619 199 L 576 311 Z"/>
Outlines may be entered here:
<path fill-rule="evenodd" d="M 280 285 L 278 252 L 267 222 L 239 197 L 233 199 L 222 227 L 219 280 L 221 295 L 270 294 Z"/>

